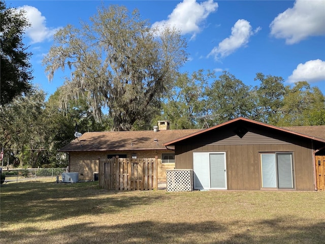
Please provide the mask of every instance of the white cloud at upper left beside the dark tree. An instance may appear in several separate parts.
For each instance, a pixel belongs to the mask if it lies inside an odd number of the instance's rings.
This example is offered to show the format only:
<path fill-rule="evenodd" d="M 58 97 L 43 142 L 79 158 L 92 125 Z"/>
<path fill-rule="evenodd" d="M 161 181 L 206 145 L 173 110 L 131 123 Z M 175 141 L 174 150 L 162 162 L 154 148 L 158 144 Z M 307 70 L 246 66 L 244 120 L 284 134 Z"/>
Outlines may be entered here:
<path fill-rule="evenodd" d="M 46 26 L 46 18 L 37 8 L 27 5 L 17 8 L 18 11 L 21 9 L 26 12 L 26 17 L 31 24 L 31 27 L 26 29 L 25 34 L 31 39 L 32 43 L 49 40 L 58 31 L 59 28 Z"/>

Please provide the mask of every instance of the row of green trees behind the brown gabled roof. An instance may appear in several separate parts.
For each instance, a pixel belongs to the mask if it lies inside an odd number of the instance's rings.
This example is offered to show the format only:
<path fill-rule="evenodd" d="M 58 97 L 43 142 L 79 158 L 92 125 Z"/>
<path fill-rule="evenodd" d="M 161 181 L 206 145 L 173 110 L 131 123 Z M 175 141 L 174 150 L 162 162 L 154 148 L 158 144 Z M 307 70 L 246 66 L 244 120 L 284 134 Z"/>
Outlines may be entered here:
<path fill-rule="evenodd" d="M 172 129 L 216 125 L 243 116 L 277 126 L 325 125 L 325 97 L 307 82 L 284 86 L 282 77 L 257 73 L 254 87 L 223 72 L 179 74 L 170 87 L 163 112 Z"/>

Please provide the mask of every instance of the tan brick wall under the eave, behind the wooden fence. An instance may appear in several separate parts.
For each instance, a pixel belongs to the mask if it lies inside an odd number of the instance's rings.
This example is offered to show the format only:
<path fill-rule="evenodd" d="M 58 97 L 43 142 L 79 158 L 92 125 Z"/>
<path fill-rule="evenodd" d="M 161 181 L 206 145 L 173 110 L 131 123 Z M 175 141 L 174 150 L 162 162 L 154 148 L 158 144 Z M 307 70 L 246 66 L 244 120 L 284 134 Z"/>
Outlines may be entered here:
<path fill-rule="evenodd" d="M 107 155 L 126 154 L 132 158 L 136 154 L 138 159 L 154 158 L 158 156 L 158 181 L 166 181 L 166 170 L 174 169 L 175 164 L 161 163 L 161 154 L 172 154 L 172 150 L 137 150 L 137 151 L 78 151 L 70 152 L 69 171 L 78 172 L 80 180 L 93 179 L 94 172 L 98 172 L 98 159 L 107 158 Z"/>

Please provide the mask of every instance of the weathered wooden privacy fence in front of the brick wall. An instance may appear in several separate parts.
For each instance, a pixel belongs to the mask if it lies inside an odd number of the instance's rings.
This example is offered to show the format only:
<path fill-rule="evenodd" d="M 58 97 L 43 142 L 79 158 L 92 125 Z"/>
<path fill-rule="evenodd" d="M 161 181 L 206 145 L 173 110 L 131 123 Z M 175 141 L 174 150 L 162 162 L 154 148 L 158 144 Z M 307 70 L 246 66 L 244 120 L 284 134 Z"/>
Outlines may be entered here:
<path fill-rule="evenodd" d="M 108 190 L 158 189 L 158 160 L 99 159 L 99 185 Z"/>

